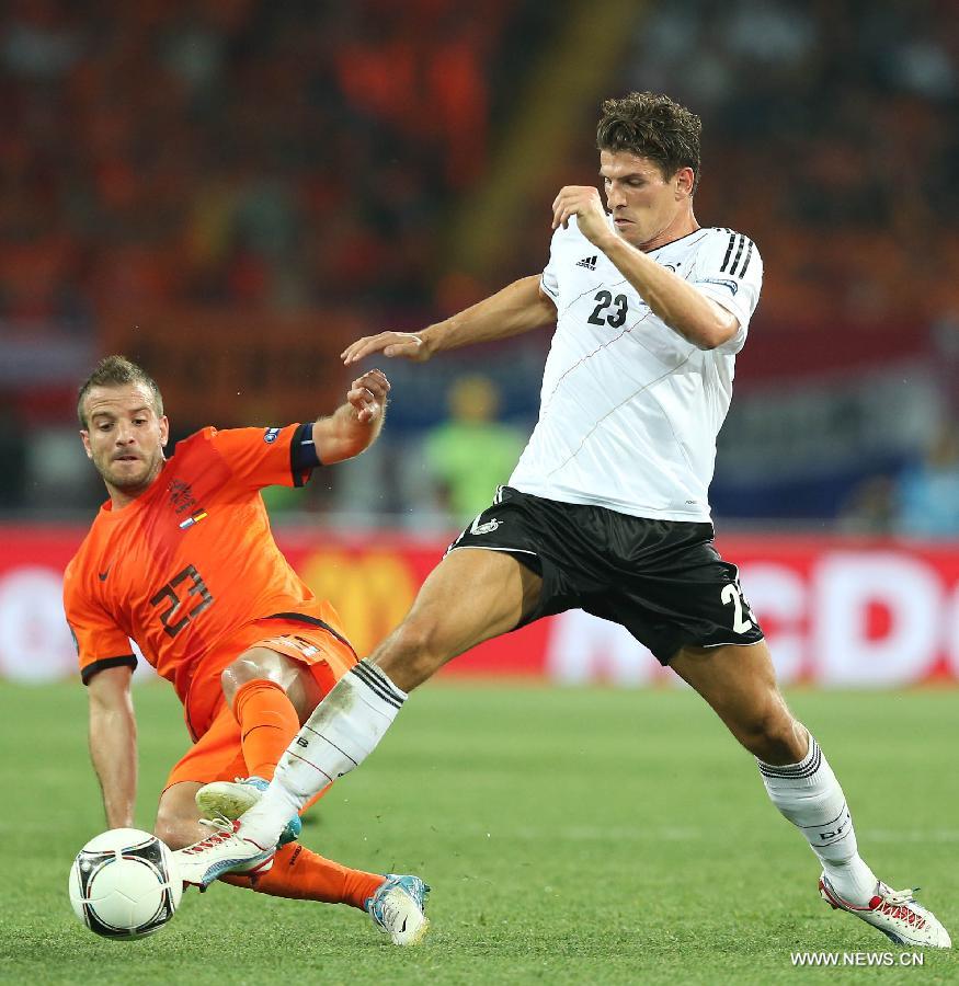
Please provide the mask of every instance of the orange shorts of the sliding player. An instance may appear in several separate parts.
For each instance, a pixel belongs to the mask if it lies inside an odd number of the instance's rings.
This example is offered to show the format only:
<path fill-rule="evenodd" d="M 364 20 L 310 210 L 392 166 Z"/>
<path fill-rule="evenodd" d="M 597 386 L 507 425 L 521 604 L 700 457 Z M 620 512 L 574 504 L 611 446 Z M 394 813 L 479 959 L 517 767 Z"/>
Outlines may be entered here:
<path fill-rule="evenodd" d="M 339 627 L 335 629 L 339 631 Z M 215 654 L 207 655 L 191 683 L 185 713 L 195 742 L 170 771 L 163 790 L 182 781 L 206 784 L 249 775 L 240 744 L 240 725 L 224 698 L 220 674 L 253 646 L 269 647 L 307 665 L 323 696 L 357 660 L 352 647 L 320 627 L 259 620 L 243 628 L 217 647 Z"/>

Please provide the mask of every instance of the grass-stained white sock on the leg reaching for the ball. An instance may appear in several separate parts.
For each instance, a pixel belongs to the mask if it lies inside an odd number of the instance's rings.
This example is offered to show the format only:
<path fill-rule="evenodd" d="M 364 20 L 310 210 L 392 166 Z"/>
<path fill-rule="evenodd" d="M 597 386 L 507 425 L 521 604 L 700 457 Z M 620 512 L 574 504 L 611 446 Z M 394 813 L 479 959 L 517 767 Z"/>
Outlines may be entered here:
<path fill-rule="evenodd" d="M 286 748 L 270 787 L 243 815 L 243 835 L 262 846 L 275 844 L 315 794 L 373 753 L 406 699 L 378 667 L 354 665 Z"/>

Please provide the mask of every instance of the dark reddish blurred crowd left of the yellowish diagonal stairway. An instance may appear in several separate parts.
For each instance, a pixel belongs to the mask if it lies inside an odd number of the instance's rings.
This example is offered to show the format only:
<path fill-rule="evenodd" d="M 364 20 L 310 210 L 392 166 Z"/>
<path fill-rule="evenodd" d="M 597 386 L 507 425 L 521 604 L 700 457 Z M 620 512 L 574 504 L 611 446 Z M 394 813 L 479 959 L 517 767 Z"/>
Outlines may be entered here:
<path fill-rule="evenodd" d="M 427 303 L 528 5 L 7 4 L 0 314 Z"/>

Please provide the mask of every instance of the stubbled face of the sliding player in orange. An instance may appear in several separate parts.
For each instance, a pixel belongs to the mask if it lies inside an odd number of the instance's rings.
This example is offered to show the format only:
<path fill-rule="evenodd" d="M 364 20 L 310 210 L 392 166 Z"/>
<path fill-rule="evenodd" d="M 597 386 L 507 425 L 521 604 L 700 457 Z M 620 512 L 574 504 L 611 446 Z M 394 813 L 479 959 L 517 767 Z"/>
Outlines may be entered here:
<path fill-rule="evenodd" d="M 163 446 L 170 436 L 169 423 L 157 414 L 149 388 L 141 383 L 92 387 L 84 410 L 83 447 L 111 494 L 142 493 L 163 467 Z"/>

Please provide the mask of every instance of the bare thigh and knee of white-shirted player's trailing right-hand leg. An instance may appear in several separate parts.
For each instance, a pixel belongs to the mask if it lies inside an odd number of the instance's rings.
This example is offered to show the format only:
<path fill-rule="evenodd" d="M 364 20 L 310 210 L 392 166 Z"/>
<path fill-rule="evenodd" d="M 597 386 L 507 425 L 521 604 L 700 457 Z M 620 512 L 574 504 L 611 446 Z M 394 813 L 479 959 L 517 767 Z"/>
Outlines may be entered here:
<path fill-rule="evenodd" d="M 682 647 L 669 665 L 761 759 L 795 764 L 806 755 L 807 732 L 779 691 L 765 640 L 746 645 Z"/>

